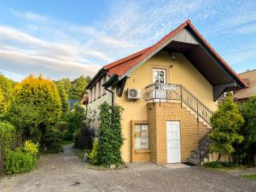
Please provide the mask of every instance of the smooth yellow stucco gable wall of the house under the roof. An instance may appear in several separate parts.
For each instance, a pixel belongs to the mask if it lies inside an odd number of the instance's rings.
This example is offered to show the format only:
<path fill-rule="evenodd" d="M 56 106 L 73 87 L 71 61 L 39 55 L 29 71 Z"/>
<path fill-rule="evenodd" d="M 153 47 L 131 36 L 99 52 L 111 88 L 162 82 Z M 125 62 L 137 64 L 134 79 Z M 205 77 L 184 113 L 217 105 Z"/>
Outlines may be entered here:
<path fill-rule="evenodd" d="M 212 85 L 199 73 L 183 54 L 176 54 L 177 60 L 172 61 L 166 52 L 154 55 L 142 66 L 131 73 L 125 84 L 123 96 L 116 97 L 116 103 L 125 110 L 122 114 L 122 127 L 125 143 L 122 156 L 125 161 L 131 160 L 131 120 L 147 120 L 147 102 L 143 100 L 145 87 L 153 83 L 153 68 L 166 69 L 166 83 L 183 84 L 190 92 L 201 100 L 208 108 L 217 109 L 217 102 L 213 102 Z M 172 67 L 170 67 L 172 65 Z M 142 98 L 136 102 L 126 100 L 127 88 L 142 90 Z"/>

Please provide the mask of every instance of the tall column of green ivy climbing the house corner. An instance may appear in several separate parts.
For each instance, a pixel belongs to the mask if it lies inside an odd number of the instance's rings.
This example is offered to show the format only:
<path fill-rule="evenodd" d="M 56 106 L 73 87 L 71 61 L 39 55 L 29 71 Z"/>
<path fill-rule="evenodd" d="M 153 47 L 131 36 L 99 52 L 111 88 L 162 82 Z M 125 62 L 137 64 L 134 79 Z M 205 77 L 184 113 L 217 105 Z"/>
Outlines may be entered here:
<path fill-rule="evenodd" d="M 124 137 L 122 136 L 120 119 L 123 108 L 111 106 L 107 102 L 103 102 L 99 108 L 99 163 L 105 166 L 121 165 L 123 160 L 120 148 L 123 145 Z"/>

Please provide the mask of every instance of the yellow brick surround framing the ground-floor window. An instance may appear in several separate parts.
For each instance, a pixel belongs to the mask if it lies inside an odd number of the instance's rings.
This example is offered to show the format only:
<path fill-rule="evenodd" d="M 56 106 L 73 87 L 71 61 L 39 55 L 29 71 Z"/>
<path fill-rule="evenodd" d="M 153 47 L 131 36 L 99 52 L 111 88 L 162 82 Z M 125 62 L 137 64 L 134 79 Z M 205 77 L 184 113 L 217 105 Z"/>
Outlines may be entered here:
<path fill-rule="evenodd" d="M 148 124 L 147 120 L 131 120 L 131 162 L 144 162 L 150 160 L 150 150 L 135 149 L 135 125 Z"/>

